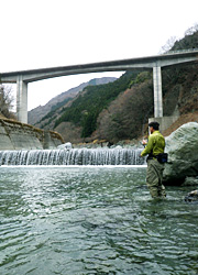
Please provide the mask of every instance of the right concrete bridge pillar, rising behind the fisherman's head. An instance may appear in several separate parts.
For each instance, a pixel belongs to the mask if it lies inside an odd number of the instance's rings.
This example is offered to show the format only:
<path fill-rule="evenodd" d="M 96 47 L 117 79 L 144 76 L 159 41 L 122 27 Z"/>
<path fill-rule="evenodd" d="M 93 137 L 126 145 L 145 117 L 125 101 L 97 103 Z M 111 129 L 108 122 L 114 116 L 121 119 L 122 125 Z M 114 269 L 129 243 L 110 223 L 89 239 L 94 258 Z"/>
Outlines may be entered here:
<path fill-rule="evenodd" d="M 154 117 L 163 117 L 162 74 L 158 65 L 153 67 Z"/>

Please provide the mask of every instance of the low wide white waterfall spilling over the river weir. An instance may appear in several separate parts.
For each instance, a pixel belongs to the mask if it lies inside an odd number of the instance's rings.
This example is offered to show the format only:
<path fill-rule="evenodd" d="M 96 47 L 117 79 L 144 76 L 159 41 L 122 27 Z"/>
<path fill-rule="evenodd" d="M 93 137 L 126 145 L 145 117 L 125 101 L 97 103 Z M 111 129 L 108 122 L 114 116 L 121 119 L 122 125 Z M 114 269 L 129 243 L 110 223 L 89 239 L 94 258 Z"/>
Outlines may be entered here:
<path fill-rule="evenodd" d="M 0 165 L 143 165 L 140 148 L 0 151 Z"/>

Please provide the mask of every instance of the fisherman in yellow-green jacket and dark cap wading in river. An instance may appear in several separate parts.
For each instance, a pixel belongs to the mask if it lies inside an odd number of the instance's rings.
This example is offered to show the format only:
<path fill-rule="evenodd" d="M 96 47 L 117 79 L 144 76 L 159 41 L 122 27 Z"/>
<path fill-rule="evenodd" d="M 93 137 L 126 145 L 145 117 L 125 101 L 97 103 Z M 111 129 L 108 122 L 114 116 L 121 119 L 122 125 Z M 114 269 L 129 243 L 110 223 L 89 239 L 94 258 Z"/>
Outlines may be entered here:
<path fill-rule="evenodd" d="M 150 189 L 150 194 L 153 198 L 166 197 L 165 187 L 162 184 L 164 162 L 167 162 L 167 154 L 164 154 L 165 139 L 160 133 L 158 122 L 151 122 L 148 142 L 142 141 L 145 148 L 142 151 L 141 156 L 147 156 L 147 172 L 146 184 Z"/>

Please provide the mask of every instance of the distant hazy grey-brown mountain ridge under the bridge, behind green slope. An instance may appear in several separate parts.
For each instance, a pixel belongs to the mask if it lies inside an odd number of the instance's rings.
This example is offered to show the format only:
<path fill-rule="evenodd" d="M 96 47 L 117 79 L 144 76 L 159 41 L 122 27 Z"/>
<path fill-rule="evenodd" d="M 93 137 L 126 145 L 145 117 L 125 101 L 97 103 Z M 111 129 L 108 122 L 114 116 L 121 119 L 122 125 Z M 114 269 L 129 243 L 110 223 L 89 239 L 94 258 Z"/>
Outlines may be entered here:
<path fill-rule="evenodd" d="M 69 100 L 75 98 L 79 91 L 81 91 L 85 87 L 89 85 L 102 85 L 114 81 L 116 77 L 102 77 L 95 78 L 87 82 L 80 84 L 79 86 L 72 88 L 67 91 L 62 92 L 61 95 L 52 98 L 45 106 L 38 106 L 33 110 L 29 111 L 28 119 L 29 124 L 36 124 L 40 127 L 40 121 L 51 111 L 57 110 L 62 106 L 65 106 Z"/>

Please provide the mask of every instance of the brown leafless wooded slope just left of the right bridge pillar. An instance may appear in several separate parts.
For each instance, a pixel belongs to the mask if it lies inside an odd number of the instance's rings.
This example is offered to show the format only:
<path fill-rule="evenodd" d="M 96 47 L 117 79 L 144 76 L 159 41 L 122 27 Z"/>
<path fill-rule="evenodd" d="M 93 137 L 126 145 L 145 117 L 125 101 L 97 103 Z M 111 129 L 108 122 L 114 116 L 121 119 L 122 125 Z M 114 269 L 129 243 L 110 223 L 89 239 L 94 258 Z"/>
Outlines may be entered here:
<path fill-rule="evenodd" d="M 153 85 L 146 79 L 127 89 L 98 117 L 97 139 L 117 143 L 142 134 L 143 125 L 153 116 Z"/>

